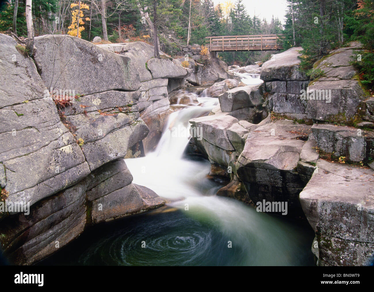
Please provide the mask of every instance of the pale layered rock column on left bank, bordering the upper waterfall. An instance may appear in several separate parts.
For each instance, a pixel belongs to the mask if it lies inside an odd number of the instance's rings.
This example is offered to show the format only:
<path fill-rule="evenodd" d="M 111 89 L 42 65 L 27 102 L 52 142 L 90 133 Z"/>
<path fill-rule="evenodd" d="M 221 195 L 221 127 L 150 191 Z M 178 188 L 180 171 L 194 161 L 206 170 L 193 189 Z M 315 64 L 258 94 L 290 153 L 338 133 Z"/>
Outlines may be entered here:
<path fill-rule="evenodd" d="M 169 59 L 160 52 L 162 59 L 154 58 L 153 46 L 137 41 L 126 44 L 99 45 L 130 59 L 140 77 L 140 117 L 149 129 L 143 140 L 146 153 L 153 151 L 162 134 L 162 129 L 171 113 L 168 93 L 184 87 L 191 69 L 183 68 L 178 60 Z"/>

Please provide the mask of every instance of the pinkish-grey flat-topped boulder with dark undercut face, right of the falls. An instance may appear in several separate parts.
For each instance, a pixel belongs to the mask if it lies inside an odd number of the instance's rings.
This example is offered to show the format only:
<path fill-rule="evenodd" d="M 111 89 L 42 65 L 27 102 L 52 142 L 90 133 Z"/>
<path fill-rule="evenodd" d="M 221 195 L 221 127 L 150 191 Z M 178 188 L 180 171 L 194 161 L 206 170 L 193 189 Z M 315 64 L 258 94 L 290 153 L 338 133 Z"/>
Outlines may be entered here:
<path fill-rule="evenodd" d="M 279 120 L 248 134 L 236 173 L 253 202 L 288 202 L 288 214 L 302 214 L 298 195 L 305 183 L 297 167 L 309 133 L 307 125 Z"/>

